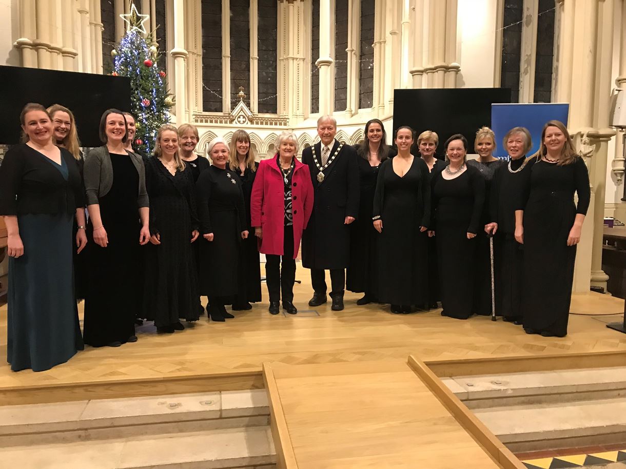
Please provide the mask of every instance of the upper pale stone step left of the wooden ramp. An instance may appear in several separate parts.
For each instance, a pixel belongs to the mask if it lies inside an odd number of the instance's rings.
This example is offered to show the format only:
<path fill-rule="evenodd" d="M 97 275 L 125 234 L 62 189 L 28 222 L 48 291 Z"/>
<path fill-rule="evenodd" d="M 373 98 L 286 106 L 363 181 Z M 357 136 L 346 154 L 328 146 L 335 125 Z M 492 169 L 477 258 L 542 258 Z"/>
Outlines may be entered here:
<path fill-rule="evenodd" d="M 268 424 L 265 389 L 0 406 L 0 447 Z"/>

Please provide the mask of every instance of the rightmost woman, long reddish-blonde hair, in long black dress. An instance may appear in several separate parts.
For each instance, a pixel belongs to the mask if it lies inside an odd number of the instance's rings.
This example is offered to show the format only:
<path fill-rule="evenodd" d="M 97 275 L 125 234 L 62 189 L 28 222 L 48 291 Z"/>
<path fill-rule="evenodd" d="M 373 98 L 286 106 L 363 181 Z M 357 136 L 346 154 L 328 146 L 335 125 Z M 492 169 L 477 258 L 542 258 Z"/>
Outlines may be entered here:
<path fill-rule="evenodd" d="M 576 245 L 591 198 L 589 173 L 557 120 L 543 127 L 539 152 L 526 165 L 525 197 L 515 212 L 515 239 L 524 244 L 524 330 L 565 337 Z"/>

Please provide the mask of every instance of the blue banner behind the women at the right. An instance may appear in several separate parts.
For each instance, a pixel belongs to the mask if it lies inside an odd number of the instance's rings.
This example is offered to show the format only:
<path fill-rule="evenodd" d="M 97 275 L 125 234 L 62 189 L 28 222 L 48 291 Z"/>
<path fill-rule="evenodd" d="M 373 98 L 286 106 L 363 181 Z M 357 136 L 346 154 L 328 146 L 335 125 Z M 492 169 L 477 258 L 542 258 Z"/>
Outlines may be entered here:
<path fill-rule="evenodd" d="M 570 105 L 567 103 L 538 103 L 538 104 L 492 104 L 491 130 L 496 134 L 496 151 L 493 156 L 507 158 L 502 139 L 506 132 L 513 127 L 526 127 L 533 137 L 533 147 L 528 155 L 539 150 L 541 130 L 549 120 L 560 120 L 567 126 L 567 116 Z"/>

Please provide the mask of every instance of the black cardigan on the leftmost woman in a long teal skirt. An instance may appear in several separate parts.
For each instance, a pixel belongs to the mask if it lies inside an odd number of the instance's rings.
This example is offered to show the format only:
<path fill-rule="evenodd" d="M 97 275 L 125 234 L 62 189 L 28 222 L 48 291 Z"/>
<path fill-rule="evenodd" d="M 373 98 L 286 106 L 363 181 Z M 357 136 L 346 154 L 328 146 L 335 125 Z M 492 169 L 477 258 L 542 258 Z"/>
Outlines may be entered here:
<path fill-rule="evenodd" d="M 0 166 L 0 215 L 73 215 L 85 207 L 85 190 L 78 164 L 68 150 L 61 158 L 68 167 L 68 180 L 53 162 L 26 143 L 15 145 Z"/>

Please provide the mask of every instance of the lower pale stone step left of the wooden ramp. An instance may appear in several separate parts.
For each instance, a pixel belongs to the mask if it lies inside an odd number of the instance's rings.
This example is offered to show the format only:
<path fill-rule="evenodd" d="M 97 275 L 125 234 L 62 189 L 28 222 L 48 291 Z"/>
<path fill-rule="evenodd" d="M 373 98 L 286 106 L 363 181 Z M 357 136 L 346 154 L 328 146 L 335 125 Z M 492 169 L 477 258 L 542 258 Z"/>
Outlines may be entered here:
<path fill-rule="evenodd" d="M 269 426 L 0 448 L 20 469 L 274 469 Z"/>

